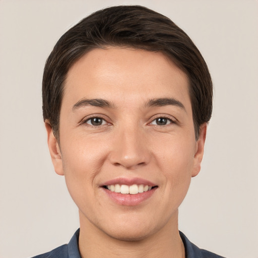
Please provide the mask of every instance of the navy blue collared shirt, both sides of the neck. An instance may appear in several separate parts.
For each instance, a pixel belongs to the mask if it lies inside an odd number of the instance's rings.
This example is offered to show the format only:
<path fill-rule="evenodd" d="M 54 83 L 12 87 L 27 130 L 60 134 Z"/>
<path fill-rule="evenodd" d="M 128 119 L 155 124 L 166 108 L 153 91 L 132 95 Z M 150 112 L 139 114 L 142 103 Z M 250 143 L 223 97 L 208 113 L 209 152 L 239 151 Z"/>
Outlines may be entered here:
<path fill-rule="evenodd" d="M 39 254 L 32 258 L 82 258 L 78 247 L 79 233 L 80 229 L 75 232 L 68 244 L 61 245 L 50 252 Z M 179 233 L 184 244 L 186 258 L 223 258 L 220 255 L 198 248 L 182 232 Z"/>

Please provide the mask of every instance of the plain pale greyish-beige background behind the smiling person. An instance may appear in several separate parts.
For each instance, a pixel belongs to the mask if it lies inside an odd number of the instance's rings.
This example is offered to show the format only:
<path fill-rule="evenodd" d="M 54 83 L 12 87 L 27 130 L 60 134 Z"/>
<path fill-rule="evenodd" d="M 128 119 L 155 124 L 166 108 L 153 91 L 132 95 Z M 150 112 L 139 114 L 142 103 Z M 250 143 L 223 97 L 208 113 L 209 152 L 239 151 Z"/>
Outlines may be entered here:
<path fill-rule="evenodd" d="M 258 257 L 256 0 L 0 0 L 0 257 L 49 251 L 79 227 L 77 207 L 48 153 L 41 78 L 67 29 L 119 4 L 171 18 L 196 43 L 213 77 L 203 166 L 179 209 L 179 229 L 228 258 Z"/>

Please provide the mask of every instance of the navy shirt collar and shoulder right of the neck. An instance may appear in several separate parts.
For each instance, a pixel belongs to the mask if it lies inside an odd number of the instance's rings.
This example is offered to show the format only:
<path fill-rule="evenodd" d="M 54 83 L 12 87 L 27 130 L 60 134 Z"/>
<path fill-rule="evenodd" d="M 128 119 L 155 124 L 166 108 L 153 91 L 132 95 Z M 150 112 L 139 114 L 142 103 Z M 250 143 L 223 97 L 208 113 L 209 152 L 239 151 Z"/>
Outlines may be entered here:
<path fill-rule="evenodd" d="M 200 249 L 198 246 L 191 243 L 182 232 L 180 232 L 180 237 L 183 241 L 187 258 L 225 258 L 216 253 Z"/>

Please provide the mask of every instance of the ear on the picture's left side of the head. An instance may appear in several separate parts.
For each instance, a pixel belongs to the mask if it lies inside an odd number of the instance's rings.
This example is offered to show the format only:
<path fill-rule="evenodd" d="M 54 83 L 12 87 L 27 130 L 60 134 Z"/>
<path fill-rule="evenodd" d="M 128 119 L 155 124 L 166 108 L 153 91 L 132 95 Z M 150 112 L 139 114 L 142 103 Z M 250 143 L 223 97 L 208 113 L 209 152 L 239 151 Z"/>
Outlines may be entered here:
<path fill-rule="evenodd" d="M 63 175 L 62 167 L 62 155 L 56 138 L 54 137 L 52 126 L 49 121 L 45 121 L 45 127 L 47 132 L 47 144 L 54 165 L 54 170 L 56 174 Z"/>

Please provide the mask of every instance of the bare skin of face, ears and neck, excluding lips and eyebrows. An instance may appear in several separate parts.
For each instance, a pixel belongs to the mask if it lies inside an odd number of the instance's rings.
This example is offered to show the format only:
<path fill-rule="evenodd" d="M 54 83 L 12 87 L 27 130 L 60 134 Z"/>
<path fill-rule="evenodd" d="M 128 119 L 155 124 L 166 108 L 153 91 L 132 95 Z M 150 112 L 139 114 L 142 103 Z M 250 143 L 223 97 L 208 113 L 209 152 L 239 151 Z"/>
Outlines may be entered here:
<path fill-rule="evenodd" d="M 146 105 L 157 98 L 182 106 Z M 78 104 L 84 99 L 111 105 Z M 102 119 L 100 125 L 92 124 L 93 117 Z M 68 73 L 59 143 L 45 124 L 54 169 L 65 176 L 79 208 L 83 258 L 184 256 L 178 207 L 200 171 L 207 124 L 196 141 L 188 79 L 171 60 L 129 48 L 91 50 Z M 158 187 L 141 204 L 123 206 L 102 187 L 118 177 Z"/>

